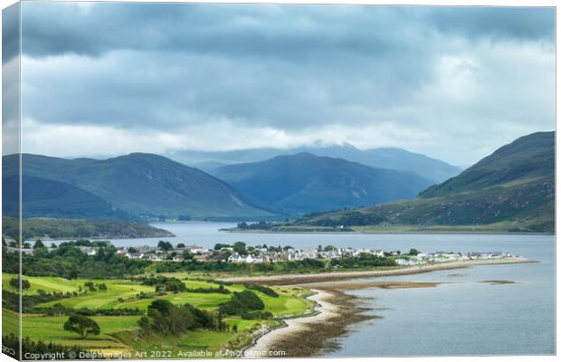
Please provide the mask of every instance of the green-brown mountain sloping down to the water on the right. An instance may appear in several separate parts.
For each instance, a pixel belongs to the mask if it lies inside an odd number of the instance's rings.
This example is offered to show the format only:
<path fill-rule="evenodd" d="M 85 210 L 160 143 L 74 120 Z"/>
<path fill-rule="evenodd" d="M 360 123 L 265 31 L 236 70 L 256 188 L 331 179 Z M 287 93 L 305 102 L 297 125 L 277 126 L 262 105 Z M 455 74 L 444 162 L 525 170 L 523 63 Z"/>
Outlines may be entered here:
<path fill-rule="evenodd" d="M 313 215 L 304 225 L 488 225 L 555 231 L 555 132 L 518 138 L 412 201 Z"/>

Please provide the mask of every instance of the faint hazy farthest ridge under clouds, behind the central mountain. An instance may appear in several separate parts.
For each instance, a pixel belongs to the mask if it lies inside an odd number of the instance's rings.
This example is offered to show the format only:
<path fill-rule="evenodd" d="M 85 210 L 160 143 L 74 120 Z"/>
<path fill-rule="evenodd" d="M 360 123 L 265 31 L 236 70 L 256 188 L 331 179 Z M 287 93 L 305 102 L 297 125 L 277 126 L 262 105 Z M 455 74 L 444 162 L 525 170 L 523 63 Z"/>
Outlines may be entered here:
<path fill-rule="evenodd" d="M 360 164 L 413 172 L 433 181 L 442 182 L 461 172 L 461 168 L 401 148 L 372 148 L 361 150 L 352 145 L 307 148 L 257 148 L 224 152 L 181 151 L 169 157 L 192 167 L 212 172 L 223 164 L 258 162 L 281 155 L 311 153 L 316 156 L 344 158 Z"/>

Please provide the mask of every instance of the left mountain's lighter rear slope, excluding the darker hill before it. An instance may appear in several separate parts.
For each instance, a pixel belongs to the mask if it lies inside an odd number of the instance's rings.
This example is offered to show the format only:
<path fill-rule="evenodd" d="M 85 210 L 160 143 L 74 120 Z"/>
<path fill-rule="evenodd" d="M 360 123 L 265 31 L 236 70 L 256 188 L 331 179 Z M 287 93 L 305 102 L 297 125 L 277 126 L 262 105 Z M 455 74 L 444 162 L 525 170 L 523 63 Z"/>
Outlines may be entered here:
<path fill-rule="evenodd" d="M 9 165 L 15 159 L 5 157 L 4 161 Z M 26 154 L 23 169 L 24 177 L 38 177 L 79 188 L 111 207 L 135 216 L 228 218 L 271 215 L 253 206 L 223 181 L 156 155 L 137 153 L 106 160 L 69 160 Z M 24 189 L 24 197 L 25 193 Z M 34 196 L 28 201 L 36 205 L 43 195 Z"/>

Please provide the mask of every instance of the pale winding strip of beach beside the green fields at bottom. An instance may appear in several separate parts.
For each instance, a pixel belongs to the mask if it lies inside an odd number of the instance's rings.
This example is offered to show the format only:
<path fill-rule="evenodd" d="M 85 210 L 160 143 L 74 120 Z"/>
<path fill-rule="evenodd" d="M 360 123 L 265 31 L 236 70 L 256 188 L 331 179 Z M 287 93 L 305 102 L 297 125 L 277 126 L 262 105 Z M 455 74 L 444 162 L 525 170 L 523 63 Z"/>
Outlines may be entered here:
<path fill-rule="evenodd" d="M 296 332 L 302 332 L 309 329 L 313 323 L 323 322 L 338 316 L 338 306 L 330 303 L 328 300 L 333 298 L 333 294 L 328 291 L 312 290 L 316 294 L 309 296 L 309 300 L 314 300 L 318 303 L 316 310 L 318 314 L 302 317 L 296 319 L 285 319 L 286 327 L 279 329 L 272 329 L 270 332 L 264 334 L 257 342 L 250 348 L 245 349 L 243 357 L 267 357 L 266 353 L 274 349 L 274 344 L 281 338 L 288 337 Z M 279 352 L 279 351 L 277 351 Z"/>

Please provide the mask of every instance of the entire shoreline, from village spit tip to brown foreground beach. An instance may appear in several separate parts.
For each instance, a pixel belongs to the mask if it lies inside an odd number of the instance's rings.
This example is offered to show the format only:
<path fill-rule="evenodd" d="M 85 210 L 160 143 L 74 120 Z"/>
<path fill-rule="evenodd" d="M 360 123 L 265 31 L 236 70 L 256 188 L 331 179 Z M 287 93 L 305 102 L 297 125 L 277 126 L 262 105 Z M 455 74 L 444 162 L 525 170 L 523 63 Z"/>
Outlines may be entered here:
<path fill-rule="evenodd" d="M 399 288 L 433 288 L 438 286 L 438 282 L 411 282 L 411 281 L 366 281 L 350 283 L 348 288 L 339 283 L 328 283 L 328 281 L 342 279 L 356 279 L 364 276 L 375 277 L 382 275 L 408 275 L 421 272 L 449 270 L 467 268 L 476 265 L 499 265 L 530 263 L 526 259 L 503 260 L 503 261 L 476 261 L 476 262 L 445 262 L 436 265 L 423 265 L 423 267 L 406 267 L 401 270 L 392 271 L 349 271 L 339 273 L 324 274 L 300 274 L 280 275 L 269 277 L 246 277 L 243 280 L 259 281 L 263 283 L 263 278 L 274 285 L 298 284 L 309 288 L 314 294 L 306 297 L 316 303 L 314 313 L 300 318 L 282 319 L 281 327 L 269 329 L 263 334 L 256 336 L 252 345 L 242 350 L 243 358 L 267 358 L 267 357 L 315 357 L 320 350 L 337 348 L 334 338 L 347 334 L 348 327 L 361 321 L 381 318 L 363 314 L 368 308 L 357 305 L 358 298 L 346 294 L 343 291 L 363 289 L 368 287 L 382 289 Z M 446 265 L 447 264 L 447 265 Z M 341 275 L 343 274 L 343 275 Z M 327 278 L 325 278 L 327 276 Z M 234 278 L 232 278 L 234 279 Z M 242 279 L 242 278 L 240 278 Z M 238 280 L 240 280 L 238 279 Z M 484 282 L 484 281 L 483 281 Z M 309 333 L 313 331 L 313 333 Z M 329 342 L 331 340 L 331 342 Z M 326 345 L 326 343 L 328 343 Z M 329 344 L 330 343 L 330 344 Z M 272 354 L 269 354 L 272 353 Z M 284 355 L 275 355 L 284 353 Z"/>

